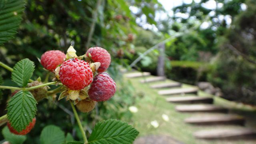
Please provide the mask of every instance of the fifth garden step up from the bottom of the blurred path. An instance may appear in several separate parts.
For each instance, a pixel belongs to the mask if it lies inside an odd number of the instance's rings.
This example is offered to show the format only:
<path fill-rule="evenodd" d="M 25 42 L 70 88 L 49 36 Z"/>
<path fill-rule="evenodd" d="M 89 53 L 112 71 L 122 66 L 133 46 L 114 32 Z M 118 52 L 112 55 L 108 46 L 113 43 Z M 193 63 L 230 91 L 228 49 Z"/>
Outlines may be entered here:
<path fill-rule="evenodd" d="M 176 88 L 170 90 L 159 90 L 158 94 L 160 95 L 173 95 L 173 94 L 197 94 L 198 88 Z"/>

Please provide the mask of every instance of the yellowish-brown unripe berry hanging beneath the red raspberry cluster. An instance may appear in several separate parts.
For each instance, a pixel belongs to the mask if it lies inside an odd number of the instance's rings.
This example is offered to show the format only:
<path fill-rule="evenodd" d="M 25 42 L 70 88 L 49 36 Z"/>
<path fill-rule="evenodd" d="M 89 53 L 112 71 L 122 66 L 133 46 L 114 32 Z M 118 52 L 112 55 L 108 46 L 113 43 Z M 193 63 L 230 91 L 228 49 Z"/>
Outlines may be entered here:
<path fill-rule="evenodd" d="M 94 109 L 96 102 L 94 100 L 85 99 L 81 100 L 76 104 L 76 108 L 80 110 L 80 112 L 90 112 Z"/>

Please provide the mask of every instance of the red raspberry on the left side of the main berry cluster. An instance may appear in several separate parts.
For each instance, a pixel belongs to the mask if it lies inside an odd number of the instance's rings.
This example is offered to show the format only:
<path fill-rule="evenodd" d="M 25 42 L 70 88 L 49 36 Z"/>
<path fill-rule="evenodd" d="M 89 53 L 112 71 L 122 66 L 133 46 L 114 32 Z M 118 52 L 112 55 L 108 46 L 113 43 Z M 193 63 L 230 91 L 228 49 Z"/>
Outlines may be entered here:
<path fill-rule="evenodd" d="M 50 50 L 41 56 L 41 64 L 46 70 L 54 71 L 55 68 L 65 61 L 65 54 L 60 50 Z"/>

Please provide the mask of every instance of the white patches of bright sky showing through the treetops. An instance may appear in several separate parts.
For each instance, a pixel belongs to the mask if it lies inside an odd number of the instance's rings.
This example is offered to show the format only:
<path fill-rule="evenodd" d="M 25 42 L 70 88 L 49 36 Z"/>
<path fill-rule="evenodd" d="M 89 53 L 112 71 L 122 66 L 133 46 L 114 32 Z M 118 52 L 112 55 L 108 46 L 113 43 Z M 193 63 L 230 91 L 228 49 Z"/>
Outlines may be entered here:
<path fill-rule="evenodd" d="M 201 2 L 201 0 L 158 0 L 158 2 L 160 2 L 162 4 L 162 6 L 164 7 L 164 9 L 167 11 L 167 13 L 164 13 L 164 12 L 156 12 L 156 18 L 155 20 L 164 20 L 166 19 L 168 16 L 173 16 L 174 13 L 172 11 L 172 8 L 176 7 L 176 6 L 180 6 L 182 5 L 182 3 L 185 3 L 185 4 L 191 4 L 192 2 L 196 2 L 196 3 L 199 3 Z M 226 1 L 230 1 L 230 0 L 226 0 Z M 208 0 L 207 2 L 205 3 L 202 3 L 202 6 L 204 8 L 207 8 L 209 10 L 215 10 L 216 8 L 222 8 L 223 4 L 222 3 L 218 3 L 216 4 L 216 1 L 215 0 Z M 247 6 L 246 4 L 241 4 L 241 9 L 242 10 L 246 10 Z M 133 6 L 130 6 L 130 10 L 132 10 L 132 12 L 136 13 L 136 11 L 138 11 L 136 9 L 136 7 L 133 7 Z M 215 12 L 212 11 L 210 12 L 210 16 L 214 15 Z M 189 14 L 183 14 L 183 13 L 177 13 L 176 16 L 178 17 L 182 17 L 182 18 L 188 18 L 189 17 Z M 232 19 L 231 19 L 231 16 L 229 15 L 226 15 L 226 16 L 219 16 L 217 19 L 215 19 L 216 21 L 222 21 L 222 20 L 225 20 L 226 23 L 228 25 L 231 24 L 232 22 Z M 154 31 L 157 31 L 157 28 L 156 26 L 154 25 L 151 25 L 151 24 L 147 24 L 146 23 L 146 16 L 142 16 L 142 18 L 137 18 L 136 19 L 136 22 L 137 23 L 140 23 L 142 25 L 143 28 L 145 29 L 151 29 L 151 30 L 154 30 Z M 209 22 L 203 22 L 200 26 L 200 28 L 202 29 L 206 29 L 210 26 L 210 23 Z"/>

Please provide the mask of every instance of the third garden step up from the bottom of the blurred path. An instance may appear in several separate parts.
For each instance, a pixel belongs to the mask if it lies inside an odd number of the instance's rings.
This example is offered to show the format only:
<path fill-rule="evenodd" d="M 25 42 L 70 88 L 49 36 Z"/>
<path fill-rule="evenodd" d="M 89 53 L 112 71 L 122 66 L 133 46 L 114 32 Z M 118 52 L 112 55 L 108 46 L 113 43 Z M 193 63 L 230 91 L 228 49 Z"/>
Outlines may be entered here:
<path fill-rule="evenodd" d="M 175 109 L 179 112 L 228 112 L 226 108 L 212 104 L 179 105 Z"/>

